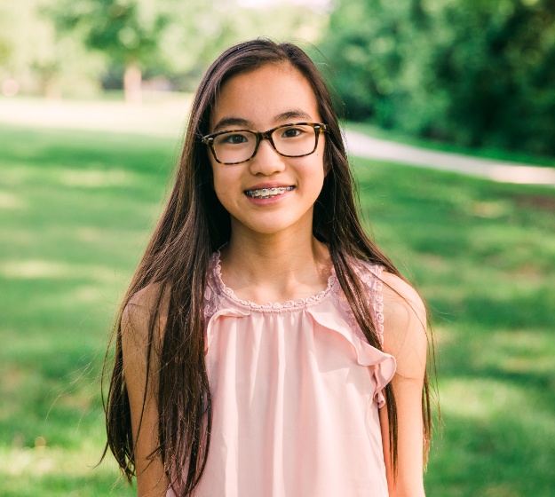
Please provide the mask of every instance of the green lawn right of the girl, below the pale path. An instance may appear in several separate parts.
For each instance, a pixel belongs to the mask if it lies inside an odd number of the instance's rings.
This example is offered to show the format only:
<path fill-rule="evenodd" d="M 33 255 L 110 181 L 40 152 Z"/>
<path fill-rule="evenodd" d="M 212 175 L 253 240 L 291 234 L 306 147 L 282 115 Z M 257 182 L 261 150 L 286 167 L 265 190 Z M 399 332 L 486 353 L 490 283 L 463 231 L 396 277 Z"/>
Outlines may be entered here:
<path fill-rule="evenodd" d="M 552 495 L 555 191 L 358 162 L 377 240 L 432 308 L 430 495 Z"/>

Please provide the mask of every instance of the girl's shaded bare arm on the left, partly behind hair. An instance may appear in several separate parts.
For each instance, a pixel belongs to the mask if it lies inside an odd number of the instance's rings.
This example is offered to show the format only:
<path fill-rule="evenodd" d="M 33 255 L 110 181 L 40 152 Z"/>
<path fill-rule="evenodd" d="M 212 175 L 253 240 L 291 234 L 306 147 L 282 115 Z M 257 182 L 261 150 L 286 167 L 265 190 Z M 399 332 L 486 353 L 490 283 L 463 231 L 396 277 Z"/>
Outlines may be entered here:
<path fill-rule="evenodd" d="M 168 478 L 164 473 L 160 457 L 148 459 L 148 455 L 158 446 L 157 346 L 151 352 L 148 384 L 146 384 L 148 319 L 150 304 L 154 298 L 153 293 L 152 288 L 145 288 L 133 296 L 122 316 L 123 374 L 131 406 L 133 440 L 136 441 L 135 469 L 139 497 L 163 497 L 168 489 Z M 160 329 L 162 329 L 162 323 L 158 323 L 155 328 L 155 340 L 158 343 L 161 336 Z"/>

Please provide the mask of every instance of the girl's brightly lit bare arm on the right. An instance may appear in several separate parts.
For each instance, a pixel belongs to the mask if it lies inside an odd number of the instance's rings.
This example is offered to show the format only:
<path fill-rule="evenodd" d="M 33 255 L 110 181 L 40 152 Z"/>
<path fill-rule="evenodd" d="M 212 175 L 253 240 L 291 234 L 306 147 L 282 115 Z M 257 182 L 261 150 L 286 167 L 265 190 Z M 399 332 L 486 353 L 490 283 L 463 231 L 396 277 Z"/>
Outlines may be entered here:
<path fill-rule="evenodd" d="M 397 360 L 397 370 L 392 379 L 398 422 L 396 477 L 393 477 L 391 467 L 387 407 L 380 409 L 387 485 L 391 497 L 422 497 L 422 389 L 427 350 L 424 304 L 416 290 L 397 276 L 384 272 L 383 279 L 392 287 L 384 285 L 385 351 Z"/>

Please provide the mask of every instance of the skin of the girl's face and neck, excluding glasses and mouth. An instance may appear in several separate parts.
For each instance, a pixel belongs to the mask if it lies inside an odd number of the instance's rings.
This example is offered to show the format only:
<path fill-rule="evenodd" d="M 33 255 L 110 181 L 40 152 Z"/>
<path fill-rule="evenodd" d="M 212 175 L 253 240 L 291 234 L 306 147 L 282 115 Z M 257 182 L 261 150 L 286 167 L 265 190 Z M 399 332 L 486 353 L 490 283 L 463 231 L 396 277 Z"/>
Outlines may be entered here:
<path fill-rule="evenodd" d="M 310 84 L 289 66 L 261 67 L 227 82 L 212 115 L 212 130 L 237 129 L 237 124 L 218 127 L 230 118 L 240 119 L 250 130 L 321 122 Z M 283 302 L 326 288 L 329 255 L 312 234 L 313 205 L 324 180 L 324 145 L 322 134 L 314 154 L 289 158 L 276 154 L 264 140 L 252 161 L 232 166 L 218 164 L 210 154 L 214 189 L 231 215 L 222 275 L 240 298 Z M 295 188 L 281 200 L 259 206 L 244 192 L 260 184 Z"/>

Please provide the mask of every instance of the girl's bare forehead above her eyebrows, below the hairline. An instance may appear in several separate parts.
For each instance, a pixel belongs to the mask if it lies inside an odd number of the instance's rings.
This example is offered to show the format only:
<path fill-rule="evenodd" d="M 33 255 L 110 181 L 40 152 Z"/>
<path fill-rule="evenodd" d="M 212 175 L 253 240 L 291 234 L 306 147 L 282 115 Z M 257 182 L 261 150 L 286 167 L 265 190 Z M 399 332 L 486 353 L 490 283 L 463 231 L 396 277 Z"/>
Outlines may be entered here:
<path fill-rule="evenodd" d="M 210 126 L 222 119 L 240 118 L 260 127 L 272 127 L 276 116 L 302 111 L 307 120 L 320 121 L 312 86 L 295 67 L 273 64 L 229 79 L 215 101 Z M 298 121 L 298 120 L 297 120 Z"/>

